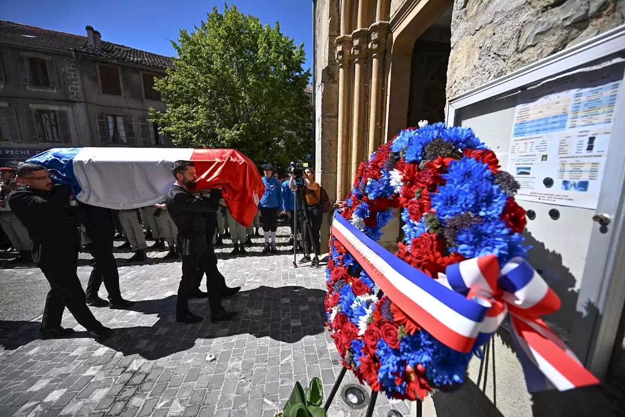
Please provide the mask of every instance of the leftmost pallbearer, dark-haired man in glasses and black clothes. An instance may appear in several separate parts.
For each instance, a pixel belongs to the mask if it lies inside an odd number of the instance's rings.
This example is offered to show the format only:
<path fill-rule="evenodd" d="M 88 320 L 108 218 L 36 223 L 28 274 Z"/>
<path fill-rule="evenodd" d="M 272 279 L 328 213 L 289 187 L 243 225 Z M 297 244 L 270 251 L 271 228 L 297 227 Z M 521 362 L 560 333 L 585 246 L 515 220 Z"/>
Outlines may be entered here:
<path fill-rule="evenodd" d="M 11 193 L 12 210 L 28 230 L 32 259 L 50 283 L 40 334 L 44 338 L 66 337 L 74 329 L 61 327 L 63 310 L 68 310 L 92 337 L 106 339 L 113 330 L 93 316 L 78 279 L 78 230 L 84 212 L 74 204 L 69 185 L 54 185 L 46 167 L 24 162 L 17 166 L 21 187 Z"/>

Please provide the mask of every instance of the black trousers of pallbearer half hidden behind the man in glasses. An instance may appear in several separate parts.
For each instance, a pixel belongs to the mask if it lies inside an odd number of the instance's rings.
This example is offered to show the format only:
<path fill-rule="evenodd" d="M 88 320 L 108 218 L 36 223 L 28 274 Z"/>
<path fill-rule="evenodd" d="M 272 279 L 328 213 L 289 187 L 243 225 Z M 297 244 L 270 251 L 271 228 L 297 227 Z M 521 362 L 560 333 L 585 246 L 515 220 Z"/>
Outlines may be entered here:
<path fill-rule="evenodd" d="M 87 299 L 98 298 L 98 291 L 104 282 L 104 288 L 109 293 L 109 301 L 120 301 L 119 272 L 113 255 L 113 242 L 111 242 L 110 247 L 102 244 L 87 244 L 85 247 L 96 261 L 93 264 L 91 275 L 89 275 Z"/>

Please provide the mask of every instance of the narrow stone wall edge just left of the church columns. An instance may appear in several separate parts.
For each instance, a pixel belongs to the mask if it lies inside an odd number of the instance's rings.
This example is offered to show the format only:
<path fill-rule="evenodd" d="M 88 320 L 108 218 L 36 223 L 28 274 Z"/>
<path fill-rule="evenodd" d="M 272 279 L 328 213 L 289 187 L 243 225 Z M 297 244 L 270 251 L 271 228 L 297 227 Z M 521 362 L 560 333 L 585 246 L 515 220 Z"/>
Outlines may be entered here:
<path fill-rule="evenodd" d="M 314 24 L 316 28 L 315 85 L 315 170 L 317 180 L 327 191 L 331 202 L 336 200 L 336 145 L 339 111 L 339 69 L 334 58 L 334 39 L 340 31 L 339 0 L 317 0 Z M 327 251 L 329 215 L 321 227 L 321 252 Z"/>

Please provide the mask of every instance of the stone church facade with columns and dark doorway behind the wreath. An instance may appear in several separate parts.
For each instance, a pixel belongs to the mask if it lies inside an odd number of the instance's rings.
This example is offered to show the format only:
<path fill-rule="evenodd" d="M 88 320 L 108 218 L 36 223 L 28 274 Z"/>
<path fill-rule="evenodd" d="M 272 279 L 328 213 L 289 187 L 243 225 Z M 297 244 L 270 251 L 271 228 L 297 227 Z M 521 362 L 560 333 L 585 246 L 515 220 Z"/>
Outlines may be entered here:
<path fill-rule="evenodd" d="M 340 202 L 358 164 L 403 128 L 444 121 L 454 97 L 621 26 L 624 16 L 622 0 L 314 1 L 316 166 L 323 187 Z M 383 231 L 381 244 L 392 249 L 399 219 Z M 329 227 L 322 232 L 327 241 Z M 611 366 L 621 378 L 622 327 Z M 625 404 L 615 396 L 614 378 L 604 388 L 532 395 L 505 336 L 495 338 L 491 353 L 496 372 L 472 362 L 472 382 L 428 399 L 424 415 L 625 412 L 612 407 Z"/>

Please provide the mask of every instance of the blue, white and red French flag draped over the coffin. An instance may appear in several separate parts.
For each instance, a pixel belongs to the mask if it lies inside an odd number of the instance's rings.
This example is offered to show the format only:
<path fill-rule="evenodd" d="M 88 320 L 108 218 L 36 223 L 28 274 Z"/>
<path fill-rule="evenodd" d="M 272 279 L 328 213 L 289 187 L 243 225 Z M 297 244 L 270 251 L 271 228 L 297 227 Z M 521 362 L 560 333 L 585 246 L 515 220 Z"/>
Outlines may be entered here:
<path fill-rule="evenodd" d="M 264 185 L 254 162 L 233 149 L 53 148 L 28 162 L 44 165 L 57 182 L 71 185 L 79 201 L 121 210 L 163 201 L 175 180 L 176 160 L 194 162 L 196 190 L 222 188 L 234 220 L 252 224 Z"/>

